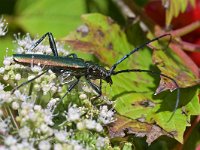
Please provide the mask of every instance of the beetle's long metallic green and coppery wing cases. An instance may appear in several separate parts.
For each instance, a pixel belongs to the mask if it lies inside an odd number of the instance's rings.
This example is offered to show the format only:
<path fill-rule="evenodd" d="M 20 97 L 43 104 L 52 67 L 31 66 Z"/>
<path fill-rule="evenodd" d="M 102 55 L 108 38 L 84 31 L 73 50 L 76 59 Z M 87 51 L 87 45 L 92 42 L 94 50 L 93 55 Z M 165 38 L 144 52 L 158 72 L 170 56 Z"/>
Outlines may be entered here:
<path fill-rule="evenodd" d="M 15 62 L 23 65 L 42 65 L 45 67 L 55 67 L 58 69 L 85 69 L 86 64 L 80 58 L 57 57 L 42 54 L 14 54 Z"/>

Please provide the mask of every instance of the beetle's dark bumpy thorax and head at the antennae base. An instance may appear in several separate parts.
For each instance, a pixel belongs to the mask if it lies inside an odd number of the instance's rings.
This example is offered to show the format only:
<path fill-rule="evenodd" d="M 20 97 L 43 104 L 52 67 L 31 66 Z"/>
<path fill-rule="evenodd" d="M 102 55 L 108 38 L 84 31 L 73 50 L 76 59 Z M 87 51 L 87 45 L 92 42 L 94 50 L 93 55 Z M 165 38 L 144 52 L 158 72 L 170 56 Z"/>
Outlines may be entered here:
<path fill-rule="evenodd" d="M 87 77 L 89 79 L 103 79 L 107 83 L 112 84 L 112 79 L 110 76 L 110 71 L 106 70 L 104 67 L 94 64 L 93 62 L 87 61 Z"/>

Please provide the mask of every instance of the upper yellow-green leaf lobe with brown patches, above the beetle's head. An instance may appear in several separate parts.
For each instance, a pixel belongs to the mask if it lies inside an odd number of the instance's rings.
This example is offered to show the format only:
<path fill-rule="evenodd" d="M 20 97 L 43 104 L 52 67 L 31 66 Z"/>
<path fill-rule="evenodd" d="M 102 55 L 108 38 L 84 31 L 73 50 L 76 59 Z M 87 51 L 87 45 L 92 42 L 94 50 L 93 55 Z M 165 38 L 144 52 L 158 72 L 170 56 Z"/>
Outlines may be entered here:
<path fill-rule="evenodd" d="M 93 53 L 109 66 L 115 61 L 110 59 L 115 55 L 115 49 L 124 51 L 130 49 L 126 36 L 111 18 L 93 14 L 82 15 L 82 20 L 85 25 L 80 26 L 76 32 L 64 38 L 74 49 Z"/>

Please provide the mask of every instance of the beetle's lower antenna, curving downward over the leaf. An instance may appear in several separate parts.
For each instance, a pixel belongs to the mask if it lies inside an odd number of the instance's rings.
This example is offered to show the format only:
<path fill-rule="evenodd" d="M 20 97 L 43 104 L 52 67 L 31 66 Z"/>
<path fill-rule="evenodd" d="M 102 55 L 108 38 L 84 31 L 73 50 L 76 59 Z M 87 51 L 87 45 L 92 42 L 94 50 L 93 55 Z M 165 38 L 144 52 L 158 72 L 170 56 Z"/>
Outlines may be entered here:
<path fill-rule="evenodd" d="M 143 70 L 143 69 L 126 69 L 126 70 L 120 70 L 120 71 L 116 71 L 112 73 L 112 75 L 117 75 L 119 73 L 127 73 L 127 72 L 147 72 L 147 73 L 151 73 L 151 74 L 156 74 L 156 75 L 160 75 L 160 76 L 163 76 L 167 79 L 170 79 L 174 85 L 176 86 L 176 89 L 177 89 L 177 97 L 176 97 L 176 104 L 175 104 L 175 107 L 174 107 L 174 111 L 173 111 L 173 114 L 171 115 L 170 119 L 174 116 L 177 108 L 178 108 L 178 105 L 179 105 L 179 101 L 180 101 L 180 87 L 178 85 L 178 83 L 176 82 L 176 80 L 174 80 L 173 78 L 165 75 L 165 74 L 162 74 L 162 73 L 158 73 L 158 72 L 155 72 L 155 71 L 151 71 L 151 70 Z"/>

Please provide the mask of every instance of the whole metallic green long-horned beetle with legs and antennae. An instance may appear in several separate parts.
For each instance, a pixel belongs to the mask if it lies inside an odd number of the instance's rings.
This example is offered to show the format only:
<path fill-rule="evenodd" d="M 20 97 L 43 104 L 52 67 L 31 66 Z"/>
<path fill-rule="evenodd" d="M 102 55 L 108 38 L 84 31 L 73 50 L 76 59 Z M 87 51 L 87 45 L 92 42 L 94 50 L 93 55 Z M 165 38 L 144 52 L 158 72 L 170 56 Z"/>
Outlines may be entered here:
<path fill-rule="evenodd" d="M 31 50 L 34 49 L 47 36 L 49 38 L 49 44 L 50 44 L 50 48 L 53 52 L 53 56 L 42 55 L 42 54 L 14 54 L 13 55 L 13 59 L 16 63 L 22 64 L 22 65 L 30 65 L 31 63 L 36 64 L 36 65 L 41 64 L 44 66 L 45 71 L 42 72 L 41 74 L 37 75 L 35 78 L 28 80 L 28 81 L 22 83 L 21 85 L 15 87 L 12 92 L 19 89 L 23 85 L 28 84 L 29 82 L 39 78 L 40 76 L 45 74 L 49 69 L 51 69 L 56 74 L 62 74 L 63 70 L 67 71 L 70 73 L 70 76 L 74 76 L 76 78 L 76 81 L 69 86 L 68 91 L 64 94 L 64 96 L 61 98 L 61 100 L 66 96 L 66 94 L 68 92 L 70 92 L 78 84 L 79 79 L 81 77 L 85 77 L 86 81 L 89 83 L 89 85 L 92 87 L 92 89 L 94 89 L 98 93 L 98 95 L 96 96 L 96 98 L 97 98 L 97 97 L 100 97 L 102 94 L 102 91 L 101 91 L 102 80 L 106 81 L 109 84 L 112 84 L 113 82 L 112 82 L 111 77 L 113 75 L 117 75 L 120 73 L 129 73 L 129 72 L 147 72 L 147 73 L 151 73 L 151 74 L 160 75 L 164 78 L 168 78 L 174 83 L 174 85 L 176 86 L 176 89 L 177 89 L 177 99 L 176 99 L 176 105 L 174 108 L 174 112 L 176 111 L 176 109 L 178 107 L 178 103 L 179 103 L 180 88 L 179 88 L 177 82 L 173 78 L 171 78 L 165 74 L 162 74 L 162 73 L 154 72 L 151 70 L 143 70 L 143 69 L 125 69 L 125 70 L 115 71 L 117 66 L 121 62 L 123 62 L 125 59 L 127 59 L 130 55 L 132 55 L 133 53 L 137 52 L 138 50 L 144 48 L 148 44 L 150 44 L 154 41 L 157 41 L 163 37 L 169 36 L 171 39 L 170 34 L 164 34 L 159 37 L 156 37 L 156 38 L 149 40 L 146 43 L 140 45 L 139 47 L 133 49 L 130 53 L 124 55 L 120 60 L 118 60 L 115 64 L 113 64 L 113 66 L 109 70 L 107 70 L 104 67 L 102 67 L 98 64 L 95 64 L 91 61 L 85 61 L 81 58 L 78 58 L 76 54 L 69 54 L 67 56 L 58 56 L 56 44 L 55 44 L 53 35 L 50 32 L 44 34 L 35 44 L 32 45 L 32 47 L 30 49 Z M 100 80 L 99 85 L 96 85 L 91 81 L 91 80 L 95 80 L 95 79 Z"/>

